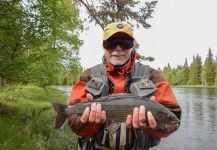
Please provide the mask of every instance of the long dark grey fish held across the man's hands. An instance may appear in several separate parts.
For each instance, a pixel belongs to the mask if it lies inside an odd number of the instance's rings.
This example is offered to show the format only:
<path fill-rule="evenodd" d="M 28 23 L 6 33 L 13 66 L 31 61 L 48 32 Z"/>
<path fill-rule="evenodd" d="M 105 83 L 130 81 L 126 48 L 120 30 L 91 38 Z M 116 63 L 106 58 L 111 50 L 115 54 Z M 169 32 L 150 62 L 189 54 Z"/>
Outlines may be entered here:
<path fill-rule="evenodd" d="M 134 107 L 145 106 L 150 111 L 157 123 L 155 130 L 163 133 L 172 133 L 180 126 L 180 120 L 168 108 L 162 104 L 133 94 L 113 94 L 95 99 L 94 101 L 78 102 L 74 105 L 64 105 L 53 102 L 53 108 L 57 112 L 55 128 L 58 129 L 72 114 L 82 115 L 86 107 L 92 103 L 100 103 L 102 110 L 106 111 L 107 120 L 116 123 L 126 122 L 127 115 L 133 113 Z M 145 122 L 145 118 L 144 118 Z"/>

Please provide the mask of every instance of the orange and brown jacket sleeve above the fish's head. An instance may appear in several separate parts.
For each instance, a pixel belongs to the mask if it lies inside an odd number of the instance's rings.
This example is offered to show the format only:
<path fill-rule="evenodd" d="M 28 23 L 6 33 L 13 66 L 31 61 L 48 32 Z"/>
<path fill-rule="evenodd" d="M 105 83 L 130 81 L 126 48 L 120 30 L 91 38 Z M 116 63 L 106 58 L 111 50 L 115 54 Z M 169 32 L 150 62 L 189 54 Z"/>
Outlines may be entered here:
<path fill-rule="evenodd" d="M 151 80 L 155 83 L 157 90 L 155 91 L 155 100 L 160 104 L 167 107 L 171 112 L 173 112 L 179 119 L 181 119 L 181 107 L 178 104 L 176 97 L 172 91 L 169 83 L 162 77 L 159 71 L 151 71 Z M 146 131 L 158 138 L 167 137 L 169 134 L 161 133 L 154 129 L 147 128 Z"/>

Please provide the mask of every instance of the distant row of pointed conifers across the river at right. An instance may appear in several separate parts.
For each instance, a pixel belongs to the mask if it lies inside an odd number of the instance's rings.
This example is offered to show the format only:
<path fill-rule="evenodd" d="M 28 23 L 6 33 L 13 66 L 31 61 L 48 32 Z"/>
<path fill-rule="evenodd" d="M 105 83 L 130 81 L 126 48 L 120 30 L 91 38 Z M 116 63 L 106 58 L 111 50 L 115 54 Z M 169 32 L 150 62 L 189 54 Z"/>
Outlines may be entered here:
<path fill-rule="evenodd" d="M 172 85 L 217 86 L 217 56 L 214 58 L 209 48 L 204 63 L 201 56 L 196 54 L 190 65 L 187 59 L 183 65 L 178 65 L 176 68 L 171 68 L 168 63 L 161 72 Z"/>

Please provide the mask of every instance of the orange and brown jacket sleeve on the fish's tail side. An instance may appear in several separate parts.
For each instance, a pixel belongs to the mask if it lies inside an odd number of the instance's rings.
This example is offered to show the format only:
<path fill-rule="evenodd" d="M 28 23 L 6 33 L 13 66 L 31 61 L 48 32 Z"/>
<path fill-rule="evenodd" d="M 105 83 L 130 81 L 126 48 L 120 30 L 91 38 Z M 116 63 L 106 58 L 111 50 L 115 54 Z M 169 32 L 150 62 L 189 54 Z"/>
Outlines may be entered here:
<path fill-rule="evenodd" d="M 87 70 L 80 76 L 80 79 L 75 83 L 75 85 L 72 88 L 68 100 L 68 103 L 70 105 L 76 104 L 77 102 L 88 101 L 86 97 L 87 91 L 85 90 L 88 81 L 89 81 L 89 75 Z M 100 128 L 99 124 L 87 123 L 82 129 L 75 130 L 76 127 L 81 126 L 82 123 L 80 122 L 80 116 L 77 116 L 76 120 L 74 118 L 75 117 L 73 116 L 69 117 L 69 125 L 72 131 L 79 136 L 92 136 L 93 134 L 97 133 Z"/>

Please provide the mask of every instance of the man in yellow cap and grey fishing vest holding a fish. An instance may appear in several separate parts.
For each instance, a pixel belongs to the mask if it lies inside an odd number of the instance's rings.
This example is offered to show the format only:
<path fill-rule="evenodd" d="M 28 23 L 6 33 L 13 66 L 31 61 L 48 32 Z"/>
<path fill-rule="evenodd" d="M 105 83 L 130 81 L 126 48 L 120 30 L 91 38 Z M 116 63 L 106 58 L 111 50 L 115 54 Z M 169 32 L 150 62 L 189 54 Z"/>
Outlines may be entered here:
<path fill-rule="evenodd" d="M 103 63 L 81 74 L 73 87 L 69 104 L 94 101 L 111 94 L 132 93 L 156 100 L 178 118 L 181 117 L 181 109 L 172 89 L 159 71 L 135 62 L 135 39 L 129 24 L 108 24 L 104 29 L 103 48 Z M 153 83 L 151 85 L 156 89 L 153 93 L 138 88 L 139 83 L 146 81 Z M 168 136 L 155 130 L 157 122 L 151 112 L 145 113 L 145 106 L 135 107 L 115 135 L 107 133 L 110 124 L 106 120 L 106 112 L 97 103 L 87 107 L 81 116 L 72 115 L 69 118 L 72 131 L 82 137 L 79 138 L 81 149 L 148 149 L 157 145 L 160 138 Z"/>

